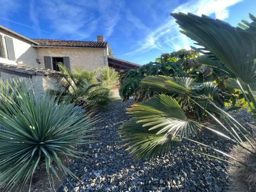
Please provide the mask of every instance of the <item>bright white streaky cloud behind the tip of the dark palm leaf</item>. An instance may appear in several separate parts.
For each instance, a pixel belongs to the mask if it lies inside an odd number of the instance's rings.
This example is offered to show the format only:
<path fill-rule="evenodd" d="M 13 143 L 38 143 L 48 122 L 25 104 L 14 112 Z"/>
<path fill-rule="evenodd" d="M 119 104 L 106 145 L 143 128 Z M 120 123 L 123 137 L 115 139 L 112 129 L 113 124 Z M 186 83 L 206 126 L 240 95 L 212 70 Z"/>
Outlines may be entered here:
<path fill-rule="evenodd" d="M 218 19 L 228 18 L 228 8 L 243 0 L 190 0 L 181 4 L 173 12 L 194 13 L 197 15 L 215 14 Z M 166 18 L 165 24 L 148 34 L 143 41 L 140 41 L 138 49 L 126 53 L 127 56 L 145 53 L 152 49 L 162 50 L 168 46 L 170 49 L 179 50 L 181 48 L 190 49 L 191 40 L 179 32 L 180 28 L 175 23 L 175 19 L 171 16 Z"/>

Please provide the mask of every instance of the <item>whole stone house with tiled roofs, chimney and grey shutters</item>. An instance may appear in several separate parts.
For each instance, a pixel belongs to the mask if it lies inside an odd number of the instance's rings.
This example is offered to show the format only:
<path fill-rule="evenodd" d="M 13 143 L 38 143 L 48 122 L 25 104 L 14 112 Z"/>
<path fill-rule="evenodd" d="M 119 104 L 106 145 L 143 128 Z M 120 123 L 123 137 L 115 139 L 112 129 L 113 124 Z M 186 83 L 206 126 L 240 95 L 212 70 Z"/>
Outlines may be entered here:
<path fill-rule="evenodd" d="M 54 87 L 51 83 L 56 84 L 59 62 L 71 71 L 110 66 L 123 73 L 139 67 L 110 56 L 109 44 L 103 36 L 97 36 L 97 41 L 31 39 L 0 25 L 2 79 L 29 78 L 38 90 L 46 90 L 48 86 Z"/>

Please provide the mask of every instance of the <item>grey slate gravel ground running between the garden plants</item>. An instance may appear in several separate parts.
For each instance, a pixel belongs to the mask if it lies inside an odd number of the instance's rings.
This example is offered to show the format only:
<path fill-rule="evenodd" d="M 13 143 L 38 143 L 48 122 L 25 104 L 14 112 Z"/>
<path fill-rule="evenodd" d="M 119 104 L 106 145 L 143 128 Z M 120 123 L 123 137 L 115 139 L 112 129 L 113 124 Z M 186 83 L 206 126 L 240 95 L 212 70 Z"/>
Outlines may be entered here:
<path fill-rule="evenodd" d="M 58 191 L 65 191 L 63 187 L 67 191 L 227 191 L 225 163 L 182 150 L 149 162 L 136 162 L 124 152 L 116 130 L 126 119 L 125 108 L 131 104 L 117 100 L 109 111 L 100 114 L 103 121 L 97 124 L 95 133 L 98 141 L 83 148 L 90 154 L 87 163 L 76 160 L 70 167 L 82 182 L 67 176 Z M 242 123 L 252 121 L 246 111 L 240 113 L 245 114 Z M 227 140 L 217 142 L 216 135 L 207 131 L 200 133 L 197 140 L 222 150 L 231 147 Z M 194 143 L 183 142 L 179 147 L 216 154 Z"/>

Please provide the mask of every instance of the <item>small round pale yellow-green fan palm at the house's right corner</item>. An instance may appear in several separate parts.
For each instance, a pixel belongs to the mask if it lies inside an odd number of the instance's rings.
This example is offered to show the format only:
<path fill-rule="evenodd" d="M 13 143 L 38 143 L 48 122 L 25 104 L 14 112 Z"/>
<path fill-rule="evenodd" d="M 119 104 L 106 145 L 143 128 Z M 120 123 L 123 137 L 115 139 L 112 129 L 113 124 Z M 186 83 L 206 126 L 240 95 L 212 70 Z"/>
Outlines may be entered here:
<path fill-rule="evenodd" d="M 99 70 L 98 82 L 101 83 L 102 87 L 113 89 L 118 84 L 119 75 L 115 69 L 110 67 L 104 67 Z"/>

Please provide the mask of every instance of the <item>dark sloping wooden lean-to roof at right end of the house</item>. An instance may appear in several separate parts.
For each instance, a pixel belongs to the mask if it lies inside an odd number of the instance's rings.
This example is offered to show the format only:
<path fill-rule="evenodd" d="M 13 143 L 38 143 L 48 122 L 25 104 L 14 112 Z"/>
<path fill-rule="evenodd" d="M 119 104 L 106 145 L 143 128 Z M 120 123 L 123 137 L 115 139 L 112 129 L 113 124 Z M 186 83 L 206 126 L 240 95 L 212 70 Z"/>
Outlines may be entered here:
<path fill-rule="evenodd" d="M 108 56 L 109 67 L 114 68 L 119 73 L 126 73 L 132 69 L 138 69 L 140 65 L 125 61 L 116 57 Z"/>

